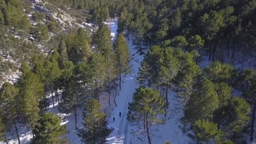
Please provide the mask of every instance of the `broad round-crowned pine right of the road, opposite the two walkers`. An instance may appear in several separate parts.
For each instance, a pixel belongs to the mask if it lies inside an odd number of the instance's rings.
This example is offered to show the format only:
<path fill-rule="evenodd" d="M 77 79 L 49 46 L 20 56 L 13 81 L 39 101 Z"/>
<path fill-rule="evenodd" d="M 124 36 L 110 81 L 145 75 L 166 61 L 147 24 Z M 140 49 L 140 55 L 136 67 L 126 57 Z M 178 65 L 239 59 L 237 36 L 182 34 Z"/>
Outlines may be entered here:
<path fill-rule="evenodd" d="M 164 119 L 158 117 L 165 114 L 165 101 L 159 95 L 158 91 L 151 88 L 138 88 L 133 94 L 133 101 L 129 103 L 127 120 L 133 124 L 143 123 L 147 131 L 148 142 L 150 140 L 150 125 L 160 124 Z"/>

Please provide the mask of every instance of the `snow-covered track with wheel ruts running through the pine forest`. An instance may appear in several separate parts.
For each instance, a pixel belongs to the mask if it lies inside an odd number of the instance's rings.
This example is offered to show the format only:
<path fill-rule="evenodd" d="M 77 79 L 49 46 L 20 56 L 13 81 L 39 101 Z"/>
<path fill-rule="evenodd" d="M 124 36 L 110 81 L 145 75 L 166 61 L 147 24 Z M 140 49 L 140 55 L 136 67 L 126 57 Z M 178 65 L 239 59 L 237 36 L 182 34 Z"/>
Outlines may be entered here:
<path fill-rule="evenodd" d="M 109 23 L 110 31 L 114 36 L 117 31 L 117 22 L 112 21 Z M 132 101 L 132 95 L 135 92 L 137 87 L 136 85 L 136 77 L 138 73 L 138 68 L 143 59 L 143 55 L 139 55 L 137 50 L 133 49 L 134 46 L 131 45 L 131 41 L 128 43 L 130 54 L 131 54 L 131 74 L 128 74 L 124 77 L 122 75 L 122 83 L 121 83 L 121 91 L 119 92 L 116 102 L 117 107 L 114 107 L 109 117 L 108 127 L 113 127 L 114 131 L 108 137 L 108 143 L 128 143 L 130 137 L 129 133 L 129 122 L 126 119 L 126 113 L 128 112 L 128 104 Z M 119 117 L 119 112 L 121 112 L 121 117 Z M 113 117 L 115 117 L 115 122 L 113 122 Z"/>

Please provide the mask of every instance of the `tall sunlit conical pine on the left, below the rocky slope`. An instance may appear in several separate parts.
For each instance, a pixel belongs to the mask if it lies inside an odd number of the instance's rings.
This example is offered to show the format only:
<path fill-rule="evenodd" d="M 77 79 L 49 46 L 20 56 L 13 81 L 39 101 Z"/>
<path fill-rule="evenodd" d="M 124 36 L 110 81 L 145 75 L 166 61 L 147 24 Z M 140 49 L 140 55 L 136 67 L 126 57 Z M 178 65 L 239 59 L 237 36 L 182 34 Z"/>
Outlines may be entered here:
<path fill-rule="evenodd" d="M 27 63 L 22 63 L 21 79 L 19 80 L 19 95 L 22 100 L 22 111 L 25 115 L 26 122 L 28 122 L 34 129 L 39 118 L 39 111 L 43 113 L 46 111 L 46 105 L 39 105 L 39 101 L 45 99 L 43 83 L 39 81 L 36 74 L 33 74 Z M 44 101 L 43 101 L 44 102 Z M 40 109 L 39 107 L 40 106 Z"/>

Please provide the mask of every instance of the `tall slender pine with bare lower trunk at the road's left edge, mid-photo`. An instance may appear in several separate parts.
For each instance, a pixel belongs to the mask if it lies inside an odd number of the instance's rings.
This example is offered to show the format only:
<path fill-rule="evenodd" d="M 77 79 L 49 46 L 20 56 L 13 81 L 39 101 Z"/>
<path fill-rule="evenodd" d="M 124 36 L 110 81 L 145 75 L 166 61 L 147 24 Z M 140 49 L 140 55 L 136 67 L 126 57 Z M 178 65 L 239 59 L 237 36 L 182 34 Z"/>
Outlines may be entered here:
<path fill-rule="evenodd" d="M 130 52 L 123 34 L 119 34 L 113 44 L 114 54 L 119 71 L 119 88 L 121 89 L 121 74 L 130 73 Z"/>

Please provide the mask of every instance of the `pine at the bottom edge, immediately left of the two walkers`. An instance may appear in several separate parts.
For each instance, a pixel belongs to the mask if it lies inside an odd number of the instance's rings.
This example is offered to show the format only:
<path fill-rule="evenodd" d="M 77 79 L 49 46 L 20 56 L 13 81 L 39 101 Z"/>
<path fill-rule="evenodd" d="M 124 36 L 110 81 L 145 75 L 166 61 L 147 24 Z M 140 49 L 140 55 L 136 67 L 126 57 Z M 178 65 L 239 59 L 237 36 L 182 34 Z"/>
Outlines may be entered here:
<path fill-rule="evenodd" d="M 78 129 L 78 136 L 83 143 L 106 143 L 106 138 L 114 130 L 108 128 L 107 115 L 101 112 L 101 105 L 96 99 L 88 100 L 83 111 L 84 129 Z"/>

